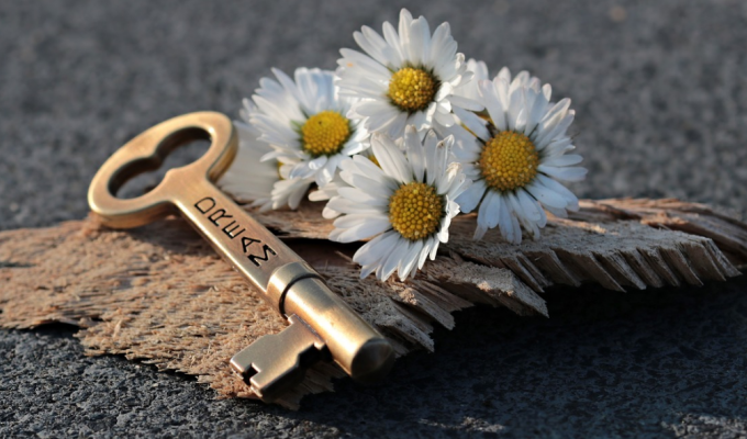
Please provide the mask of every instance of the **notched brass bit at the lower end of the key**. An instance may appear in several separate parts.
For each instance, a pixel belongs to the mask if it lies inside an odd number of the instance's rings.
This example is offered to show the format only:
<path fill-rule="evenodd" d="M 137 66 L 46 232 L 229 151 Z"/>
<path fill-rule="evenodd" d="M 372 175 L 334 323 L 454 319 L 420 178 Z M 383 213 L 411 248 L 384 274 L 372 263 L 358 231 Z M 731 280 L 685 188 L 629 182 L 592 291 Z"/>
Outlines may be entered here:
<path fill-rule="evenodd" d="M 231 359 L 231 367 L 263 401 L 272 402 L 303 381 L 306 369 L 328 352 L 298 316 L 278 334 L 260 337 Z"/>

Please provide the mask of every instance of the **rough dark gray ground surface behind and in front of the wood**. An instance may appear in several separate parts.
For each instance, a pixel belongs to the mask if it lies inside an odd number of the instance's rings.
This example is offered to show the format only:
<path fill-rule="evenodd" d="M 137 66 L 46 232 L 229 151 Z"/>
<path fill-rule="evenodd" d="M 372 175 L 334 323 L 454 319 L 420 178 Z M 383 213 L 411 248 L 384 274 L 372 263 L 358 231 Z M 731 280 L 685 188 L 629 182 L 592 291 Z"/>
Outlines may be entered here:
<path fill-rule="evenodd" d="M 129 138 L 190 111 L 235 115 L 270 67 L 334 68 L 355 30 L 402 5 L 573 100 L 579 195 L 747 212 L 740 0 L 2 0 L 0 229 L 83 217 L 90 179 Z M 2 330 L 0 437 L 746 437 L 746 290 L 558 289 L 550 319 L 466 311 L 435 353 L 297 413 L 85 358 L 69 327 Z"/>

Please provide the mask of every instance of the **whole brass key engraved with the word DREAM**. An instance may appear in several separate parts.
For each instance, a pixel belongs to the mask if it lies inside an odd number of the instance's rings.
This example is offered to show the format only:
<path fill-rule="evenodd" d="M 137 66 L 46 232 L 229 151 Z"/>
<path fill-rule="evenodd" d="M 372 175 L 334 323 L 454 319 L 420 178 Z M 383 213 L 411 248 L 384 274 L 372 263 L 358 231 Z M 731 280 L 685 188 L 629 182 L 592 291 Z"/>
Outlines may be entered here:
<path fill-rule="evenodd" d="M 168 170 L 144 195 L 115 196 L 125 181 L 157 169 L 169 153 L 199 139 L 211 142 L 199 160 Z M 236 149 L 236 133 L 225 115 L 200 112 L 174 117 L 114 153 L 93 178 L 88 203 L 104 225 L 114 228 L 137 227 L 179 211 L 288 318 L 285 330 L 259 338 L 231 359 L 233 369 L 263 399 L 276 399 L 303 379 L 306 368 L 330 358 L 358 381 L 383 376 L 394 358 L 389 341 L 330 291 L 293 250 L 213 185 Z"/>

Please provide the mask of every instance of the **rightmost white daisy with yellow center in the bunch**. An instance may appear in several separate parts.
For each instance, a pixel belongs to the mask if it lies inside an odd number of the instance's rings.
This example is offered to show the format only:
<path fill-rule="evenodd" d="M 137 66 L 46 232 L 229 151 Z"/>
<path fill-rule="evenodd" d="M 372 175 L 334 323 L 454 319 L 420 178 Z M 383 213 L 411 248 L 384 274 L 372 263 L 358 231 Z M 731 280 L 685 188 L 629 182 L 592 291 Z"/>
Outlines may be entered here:
<path fill-rule="evenodd" d="M 492 81 L 478 81 L 478 92 L 487 114 L 457 111 L 477 138 L 460 143 L 458 158 L 473 184 L 457 202 L 464 212 L 479 205 L 475 239 L 495 226 L 514 244 L 522 240 L 521 226 L 537 238 L 545 210 L 560 217 L 578 210 L 576 195 L 557 181 L 587 175 L 573 166 L 581 156 L 566 155 L 576 148 L 566 133 L 576 112 L 568 99 L 551 104 L 550 86 L 526 71 L 512 80 L 504 68 Z"/>

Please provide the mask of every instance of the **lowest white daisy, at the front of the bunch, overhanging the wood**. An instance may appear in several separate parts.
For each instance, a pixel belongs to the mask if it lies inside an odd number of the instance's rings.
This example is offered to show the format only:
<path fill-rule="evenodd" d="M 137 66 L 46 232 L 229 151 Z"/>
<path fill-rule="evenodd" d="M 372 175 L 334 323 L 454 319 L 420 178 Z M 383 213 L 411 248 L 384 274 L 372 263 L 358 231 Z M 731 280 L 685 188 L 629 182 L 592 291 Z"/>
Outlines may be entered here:
<path fill-rule="evenodd" d="M 454 137 L 438 142 L 430 132 L 421 143 L 414 126 L 404 133 L 404 153 L 383 134 L 371 136 L 376 166 L 364 156 L 341 165 L 347 183 L 330 200 L 341 214 L 330 239 L 341 243 L 369 239 L 353 260 L 384 281 L 394 271 L 401 280 L 436 257 L 439 243 L 448 240 L 451 218 L 459 213 L 454 201 L 469 185 L 461 165 L 450 154 Z"/>

